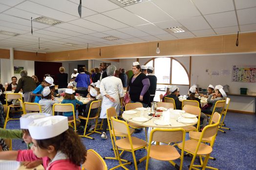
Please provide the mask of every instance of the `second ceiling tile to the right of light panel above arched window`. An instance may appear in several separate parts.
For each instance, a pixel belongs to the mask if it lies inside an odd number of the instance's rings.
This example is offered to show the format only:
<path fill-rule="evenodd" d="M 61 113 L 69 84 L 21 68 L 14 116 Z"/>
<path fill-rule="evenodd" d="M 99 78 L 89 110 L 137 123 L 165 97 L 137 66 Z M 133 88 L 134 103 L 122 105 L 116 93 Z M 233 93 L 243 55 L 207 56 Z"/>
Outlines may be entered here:
<path fill-rule="evenodd" d="M 210 14 L 204 16 L 213 28 L 228 27 L 237 25 L 235 11 Z"/>

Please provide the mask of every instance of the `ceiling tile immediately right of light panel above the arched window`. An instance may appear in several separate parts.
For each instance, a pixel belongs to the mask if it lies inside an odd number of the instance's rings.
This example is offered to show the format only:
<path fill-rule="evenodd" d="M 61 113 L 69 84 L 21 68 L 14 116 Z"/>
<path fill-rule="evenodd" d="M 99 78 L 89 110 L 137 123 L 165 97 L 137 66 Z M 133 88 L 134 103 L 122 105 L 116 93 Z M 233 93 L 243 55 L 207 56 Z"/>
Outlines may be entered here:
<path fill-rule="evenodd" d="M 189 31 L 205 30 L 211 28 L 202 16 L 179 19 L 178 21 Z"/>

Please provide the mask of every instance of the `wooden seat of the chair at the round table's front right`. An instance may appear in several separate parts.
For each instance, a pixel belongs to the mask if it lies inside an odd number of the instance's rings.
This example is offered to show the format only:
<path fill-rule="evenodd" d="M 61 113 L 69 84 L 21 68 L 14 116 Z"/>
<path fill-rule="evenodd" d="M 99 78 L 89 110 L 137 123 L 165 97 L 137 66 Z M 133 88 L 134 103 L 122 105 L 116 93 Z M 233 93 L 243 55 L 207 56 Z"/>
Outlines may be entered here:
<path fill-rule="evenodd" d="M 184 145 L 184 151 L 189 153 L 195 153 L 197 144 L 198 144 L 198 141 L 196 140 L 186 140 Z M 178 147 L 182 148 L 182 142 L 178 143 Z M 197 154 L 204 155 L 204 154 L 212 153 L 212 151 L 213 151 L 213 148 L 211 146 L 206 145 L 204 143 L 200 143 Z"/>

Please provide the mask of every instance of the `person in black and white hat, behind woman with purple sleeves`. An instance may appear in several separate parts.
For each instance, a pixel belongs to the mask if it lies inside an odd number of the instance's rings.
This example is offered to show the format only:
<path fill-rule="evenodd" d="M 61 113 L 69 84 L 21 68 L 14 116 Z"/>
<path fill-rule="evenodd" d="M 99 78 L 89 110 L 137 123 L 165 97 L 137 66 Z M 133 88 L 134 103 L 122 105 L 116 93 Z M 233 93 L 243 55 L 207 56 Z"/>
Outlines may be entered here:
<path fill-rule="evenodd" d="M 149 92 L 150 92 L 149 106 L 150 106 L 151 102 L 153 102 L 153 100 L 154 100 L 156 84 L 157 84 L 157 78 L 153 74 L 153 70 L 154 70 L 154 68 L 152 66 L 149 66 L 148 69 L 147 69 L 149 82 L 150 82 L 150 86 L 149 86 Z"/>

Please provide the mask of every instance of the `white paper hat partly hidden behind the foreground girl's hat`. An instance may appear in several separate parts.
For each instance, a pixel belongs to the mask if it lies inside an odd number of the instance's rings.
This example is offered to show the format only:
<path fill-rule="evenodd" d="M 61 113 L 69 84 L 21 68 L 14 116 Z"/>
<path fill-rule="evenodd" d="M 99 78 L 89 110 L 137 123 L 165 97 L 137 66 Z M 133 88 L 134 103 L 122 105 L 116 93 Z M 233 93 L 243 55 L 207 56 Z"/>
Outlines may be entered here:
<path fill-rule="evenodd" d="M 31 123 L 35 119 L 40 119 L 48 116 L 51 115 L 47 113 L 27 113 L 20 118 L 21 129 L 28 129 L 29 123 Z"/>

